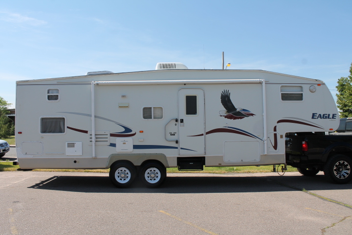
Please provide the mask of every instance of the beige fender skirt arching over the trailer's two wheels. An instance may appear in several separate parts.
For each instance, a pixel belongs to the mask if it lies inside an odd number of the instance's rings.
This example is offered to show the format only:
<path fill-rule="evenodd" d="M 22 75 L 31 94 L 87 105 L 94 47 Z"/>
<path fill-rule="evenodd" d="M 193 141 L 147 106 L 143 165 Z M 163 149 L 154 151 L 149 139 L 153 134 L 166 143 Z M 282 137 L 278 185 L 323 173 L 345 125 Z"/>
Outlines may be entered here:
<path fill-rule="evenodd" d="M 147 153 L 137 153 L 137 154 L 111 154 L 109 156 L 109 161 L 107 164 L 107 169 L 110 168 L 111 164 L 113 164 L 116 161 L 119 160 L 126 160 L 131 162 L 133 165 L 141 165 L 143 162 L 147 160 L 157 160 L 160 163 L 164 164 L 165 167 L 169 167 L 167 158 L 164 154 L 161 153 L 152 153 L 152 154 L 147 154 Z"/>

